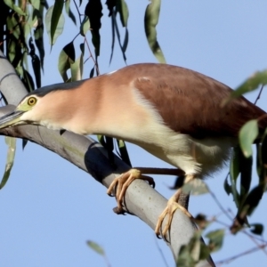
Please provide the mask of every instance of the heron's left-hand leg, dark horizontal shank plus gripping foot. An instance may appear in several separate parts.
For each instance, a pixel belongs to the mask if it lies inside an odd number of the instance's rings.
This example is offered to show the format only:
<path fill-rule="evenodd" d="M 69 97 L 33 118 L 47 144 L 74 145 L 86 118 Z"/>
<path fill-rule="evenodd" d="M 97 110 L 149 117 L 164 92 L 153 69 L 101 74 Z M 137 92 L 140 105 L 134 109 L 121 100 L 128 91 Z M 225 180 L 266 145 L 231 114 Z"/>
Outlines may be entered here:
<path fill-rule="evenodd" d="M 169 168 L 146 168 L 146 167 L 137 167 L 134 169 L 130 169 L 128 172 L 119 175 L 114 179 L 113 182 L 109 185 L 109 189 L 107 191 L 109 196 L 112 196 L 113 190 L 115 190 L 115 197 L 117 199 L 117 214 L 123 213 L 123 200 L 125 198 L 125 192 L 131 182 L 135 179 L 142 179 L 147 182 L 154 188 L 155 182 L 154 180 L 147 175 L 143 174 L 169 174 L 169 175 L 182 175 L 184 174 L 182 170 L 179 169 L 169 169 Z"/>

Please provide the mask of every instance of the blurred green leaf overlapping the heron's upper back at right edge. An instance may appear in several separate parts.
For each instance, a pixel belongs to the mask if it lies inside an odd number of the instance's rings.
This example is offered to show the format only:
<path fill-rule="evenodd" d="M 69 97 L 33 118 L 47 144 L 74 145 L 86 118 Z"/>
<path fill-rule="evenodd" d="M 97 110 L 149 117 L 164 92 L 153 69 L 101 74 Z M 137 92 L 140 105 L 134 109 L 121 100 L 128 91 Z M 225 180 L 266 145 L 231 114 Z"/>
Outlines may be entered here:
<path fill-rule="evenodd" d="M 231 93 L 231 95 L 223 101 L 223 105 L 227 104 L 234 98 L 241 96 L 244 93 L 252 92 L 260 85 L 267 85 L 267 69 L 263 71 L 257 71 L 251 77 Z"/>

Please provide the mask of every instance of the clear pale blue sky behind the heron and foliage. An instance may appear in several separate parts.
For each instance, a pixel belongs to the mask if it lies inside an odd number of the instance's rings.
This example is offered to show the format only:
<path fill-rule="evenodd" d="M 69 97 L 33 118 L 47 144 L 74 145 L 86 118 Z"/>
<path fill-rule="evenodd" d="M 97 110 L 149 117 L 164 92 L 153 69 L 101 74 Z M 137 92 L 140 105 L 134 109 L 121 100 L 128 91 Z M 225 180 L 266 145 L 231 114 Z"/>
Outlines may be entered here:
<path fill-rule="evenodd" d="M 127 2 L 130 10 L 127 64 L 156 62 L 143 31 L 143 14 L 149 2 Z M 124 67 L 125 63 L 116 49 L 109 65 L 111 30 L 104 2 L 103 8 L 99 62 L 101 73 L 106 73 Z M 267 68 L 266 10 L 267 3 L 260 0 L 163 1 L 158 41 L 167 63 L 197 70 L 236 88 L 255 71 Z M 68 18 L 66 22 L 63 35 L 52 53 L 45 56 L 43 85 L 61 82 L 57 70 L 58 54 L 78 31 Z M 88 39 L 91 39 L 90 34 Z M 91 68 L 91 63 L 86 65 L 84 77 L 88 77 Z M 255 93 L 247 95 L 250 101 L 255 101 L 255 97 Z M 266 97 L 267 93 L 263 92 L 258 101 L 265 110 Z M 88 239 L 105 249 L 112 266 L 165 266 L 156 242 L 168 266 L 174 266 L 166 244 L 156 239 L 154 232 L 138 218 L 114 214 L 115 199 L 109 198 L 106 189 L 91 176 L 36 144 L 28 142 L 22 151 L 18 140 L 17 147 L 10 180 L 0 191 L 2 266 L 106 266 L 101 256 L 86 247 Z M 140 148 L 128 147 L 134 166 L 167 166 Z M 4 138 L 1 138 L 0 163 L 3 170 L 6 150 Z M 226 174 L 227 168 L 206 182 L 223 206 L 235 213 L 232 198 L 223 190 Z M 174 178 L 156 177 L 155 180 L 156 189 L 166 198 L 174 193 L 168 189 Z M 266 204 L 263 198 L 250 219 L 251 223 L 266 222 Z M 205 195 L 191 197 L 190 213 L 212 216 L 221 214 L 221 211 L 214 200 Z M 231 224 L 223 215 L 219 219 Z M 216 224 L 211 229 L 218 228 L 222 226 Z M 255 243 L 243 234 L 233 237 L 227 232 L 223 249 L 213 258 L 215 262 L 220 261 L 252 247 Z M 256 263 L 261 267 L 266 261 L 266 255 L 259 251 L 227 266 L 252 266 Z"/>

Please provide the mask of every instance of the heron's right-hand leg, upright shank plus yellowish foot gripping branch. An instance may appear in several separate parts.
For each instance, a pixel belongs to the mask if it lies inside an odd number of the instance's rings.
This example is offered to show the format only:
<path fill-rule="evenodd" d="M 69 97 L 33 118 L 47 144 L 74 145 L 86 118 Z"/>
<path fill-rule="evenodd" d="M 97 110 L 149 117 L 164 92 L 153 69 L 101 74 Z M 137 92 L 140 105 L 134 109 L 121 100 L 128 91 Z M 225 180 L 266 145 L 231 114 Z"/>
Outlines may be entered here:
<path fill-rule="evenodd" d="M 183 184 L 192 181 L 194 178 L 195 178 L 195 176 L 193 174 L 186 175 Z M 169 229 L 171 227 L 174 212 L 176 211 L 176 209 L 182 210 L 182 212 L 184 214 L 186 214 L 190 219 L 193 218 L 193 216 L 187 210 L 188 198 L 189 198 L 189 194 L 183 193 L 182 188 L 179 188 L 174 193 L 174 196 L 168 200 L 166 208 L 158 217 L 158 223 L 157 223 L 156 228 L 155 228 L 155 233 L 156 233 L 158 238 L 160 236 L 160 230 L 162 228 L 162 223 L 163 223 L 166 215 L 168 215 L 167 223 L 166 223 L 166 225 L 165 225 L 165 227 L 161 233 L 162 238 L 166 239 L 166 233 L 167 233 L 167 231 L 169 231 Z"/>

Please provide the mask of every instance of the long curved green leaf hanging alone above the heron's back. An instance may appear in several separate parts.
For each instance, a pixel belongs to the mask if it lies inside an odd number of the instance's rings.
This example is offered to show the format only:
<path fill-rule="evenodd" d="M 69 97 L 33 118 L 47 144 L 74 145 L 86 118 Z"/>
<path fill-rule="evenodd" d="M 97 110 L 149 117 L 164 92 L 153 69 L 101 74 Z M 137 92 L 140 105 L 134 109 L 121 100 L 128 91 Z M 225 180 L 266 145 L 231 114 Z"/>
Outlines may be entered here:
<path fill-rule="evenodd" d="M 145 12 L 144 28 L 152 53 L 154 53 L 158 62 L 166 63 L 164 54 L 162 53 L 157 40 L 156 26 L 158 24 L 160 4 L 160 0 L 151 0 L 151 3 L 147 6 Z"/>

